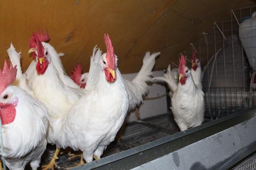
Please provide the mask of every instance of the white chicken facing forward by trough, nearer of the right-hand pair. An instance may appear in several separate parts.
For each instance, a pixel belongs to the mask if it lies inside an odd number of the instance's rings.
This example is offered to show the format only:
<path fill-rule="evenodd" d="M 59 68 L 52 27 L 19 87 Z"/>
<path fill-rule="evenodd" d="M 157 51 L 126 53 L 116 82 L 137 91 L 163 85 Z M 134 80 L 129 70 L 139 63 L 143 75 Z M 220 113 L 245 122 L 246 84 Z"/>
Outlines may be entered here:
<path fill-rule="evenodd" d="M 172 113 L 180 130 L 201 125 L 204 121 L 204 92 L 195 85 L 186 57 L 179 62 L 179 83 L 172 96 Z"/>

